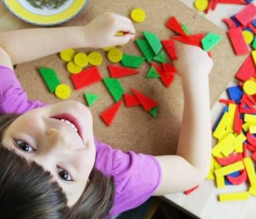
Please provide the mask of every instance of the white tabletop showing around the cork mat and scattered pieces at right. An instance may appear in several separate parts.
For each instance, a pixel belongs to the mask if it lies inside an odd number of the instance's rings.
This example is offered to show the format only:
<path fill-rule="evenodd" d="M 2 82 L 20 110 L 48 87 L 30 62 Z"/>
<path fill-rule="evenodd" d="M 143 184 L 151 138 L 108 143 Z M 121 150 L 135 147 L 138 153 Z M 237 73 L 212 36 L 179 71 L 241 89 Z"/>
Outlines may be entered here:
<path fill-rule="evenodd" d="M 192 9 L 194 0 L 180 0 L 187 4 Z M 244 6 L 232 4 L 219 4 L 215 11 L 211 11 L 208 15 L 199 12 L 203 17 L 210 20 L 215 25 L 224 30 L 227 30 L 222 18 L 230 18 L 230 16 L 239 12 Z M 228 85 L 237 85 L 237 80 L 234 78 Z M 219 99 L 228 99 L 226 91 L 222 93 Z M 214 126 L 220 112 L 225 107 L 225 104 L 217 102 L 211 110 L 211 123 Z M 246 183 L 242 185 L 227 185 L 225 188 L 217 188 L 213 180 L 205 180 L 197 190 L 186 196 L 184 193 L 174 193 L 164 196 L 170 202 L 178 205 L 181 209 L 196 215 L 203 219 L 255 219 L 256 218 L 256 198 L 250 196 L 246 201 L 227 201 L 219 202 L 218 195 L 220 193 L 235 193 L 247 191 Z"/>

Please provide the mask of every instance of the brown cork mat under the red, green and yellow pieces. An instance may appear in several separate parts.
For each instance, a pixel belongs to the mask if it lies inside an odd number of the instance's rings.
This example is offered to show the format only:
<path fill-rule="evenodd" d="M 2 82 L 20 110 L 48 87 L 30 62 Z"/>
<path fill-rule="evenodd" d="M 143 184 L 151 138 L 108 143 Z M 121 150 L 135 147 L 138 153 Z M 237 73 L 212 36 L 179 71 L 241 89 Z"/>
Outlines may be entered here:
<path fill-rule="evenodd" d="M 210 85 L 211 106 L 213 106 L 219 95 L 225 90 L 228 82 L 236 74 L 245 57 L 236 57 L 233 54 L 225 31 L 220 30 L 213 23 L 210 23 L 181 2 L 177 0 L 91 0 L 83 12 L 61 26 L 85 25 L 103 12 L 117 12 L 121 15 L 129 16 L 129 12 L 135 7 L 143 8 L 147 13 L 144 23 L 135 24 L 137 30 L 136 38 L 142 36 L 142 31 L 152 31 L 159 36 L 159 39 L 170 38 L 173 32 L 165 27 L 165 23 L 171 16 L 176 16 L 181 23 L 186 24 L 192 34 L 212 31 L 223 36 L 222 42 L 212 50 L 214 69 L 210 75 Z M 76 51 L 89 53 L 93 50 L 77 49 Z M 122 50 L 125 53 L 140 54 L 138 47 L 133 42 L 123 47 Z M 110 77 L 107 69 L 110 63 L 107 61 L 106 53 L 103 50 L 99 51 L 105 57 L 105 61 L 102 66 L 99 66 L 99 70 L 102 77 Z M 27 52 L 29 51 L 24 50 L 24 53 Z M 107 107 L 110 107 L 114 101 L 104 83 L 98 82 L 79 91 L 75 91 L 69 78 L 70 75 L 65 68 L 64 62 L 59 58 L 59 54 L 49 55 L 37 61 L 31 61 L 17 66 L 16 73 L 23 88 L 28 92 L 30 99 L 39 99 L 50 103 L 60 101 L 48 91 L 45 83 L 39 76 L 37 68 L 42 66 L 55 69 L 61 82 L 67 83 L 72 88 L 72 95 L 69 99 L 86 104 L 83 93 L 96 93 L 100 96 L 100 99 L 90 107 L 94 118 L 94 134 L 99 140 L 125 151 L 134 150 L 137 153 L 153 155 L 176 153 L 184 104 L 179 77 L 176 77 L 170 88 L 165 88 L 159 79 L 146 79 L 146 72 L 150 66 L 145 62 L 140 68 L 140 74 L 121 78 L 120 82 L 126 92 L 131 93 L 129 87 L 133 87 L 150 96 L 152 99 L 157 100 L 159 102 L 159 114 L 157 118 L 153 118 L 142 107 L 127 108 L 123 104 L 113 124 L 108 127 L 99 118 L 99 114 Z"/>

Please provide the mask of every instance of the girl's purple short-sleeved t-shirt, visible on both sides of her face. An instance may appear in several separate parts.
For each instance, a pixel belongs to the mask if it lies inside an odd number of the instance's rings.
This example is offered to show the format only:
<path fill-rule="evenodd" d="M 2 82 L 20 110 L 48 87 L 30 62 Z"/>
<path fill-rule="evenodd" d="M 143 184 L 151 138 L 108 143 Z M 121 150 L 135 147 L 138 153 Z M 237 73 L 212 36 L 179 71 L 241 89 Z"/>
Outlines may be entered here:
<path fill-rule="evenodd" d="M 0 113 L 23 114 L 45 104 L 29 100 L 18 81 L 15 72 L 0 66 Z M 110 216 L 130 210 L 143 204 L 156 191 L 162 178 L 161 167 L 152 155 L 124 153 L 110 145 L 99 142 L 96 145 L 95 167 L 106 176 L 113 176 L 116 196 Z"/>

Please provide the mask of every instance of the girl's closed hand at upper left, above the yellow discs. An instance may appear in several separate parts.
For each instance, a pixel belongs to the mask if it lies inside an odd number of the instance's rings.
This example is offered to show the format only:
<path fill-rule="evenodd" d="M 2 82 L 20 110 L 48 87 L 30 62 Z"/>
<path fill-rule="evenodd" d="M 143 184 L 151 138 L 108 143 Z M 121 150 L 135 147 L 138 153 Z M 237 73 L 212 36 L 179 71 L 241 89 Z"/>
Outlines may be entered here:
<path fill-rule="evenodd" d="M 116 36 L 123 32 L 123 36 Z M 122 15 L 107 12 L 84 26 L 86 47 L 103 48 L 127 44 L 135 38 L 132 21 Z"/>

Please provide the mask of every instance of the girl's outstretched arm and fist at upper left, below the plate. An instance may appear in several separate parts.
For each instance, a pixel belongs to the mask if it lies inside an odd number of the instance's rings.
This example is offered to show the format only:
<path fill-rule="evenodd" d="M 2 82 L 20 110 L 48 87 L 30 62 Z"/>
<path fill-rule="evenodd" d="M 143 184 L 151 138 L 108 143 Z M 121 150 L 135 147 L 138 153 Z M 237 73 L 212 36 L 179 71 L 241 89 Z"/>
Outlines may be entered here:
<path fill-rule="evenodd" d="M 117 37 L 118 31 L 124 32 L 124 36 Z M 0 47 L 10 55 L 12 64 L 20 64 L 67 48 L 101 48 L 126 44 L 134 37 L 135 28 L 129 18 L 108 12 L 86 26 L 2 32 Z"/>

